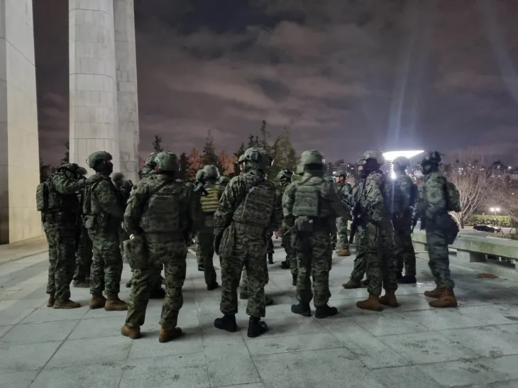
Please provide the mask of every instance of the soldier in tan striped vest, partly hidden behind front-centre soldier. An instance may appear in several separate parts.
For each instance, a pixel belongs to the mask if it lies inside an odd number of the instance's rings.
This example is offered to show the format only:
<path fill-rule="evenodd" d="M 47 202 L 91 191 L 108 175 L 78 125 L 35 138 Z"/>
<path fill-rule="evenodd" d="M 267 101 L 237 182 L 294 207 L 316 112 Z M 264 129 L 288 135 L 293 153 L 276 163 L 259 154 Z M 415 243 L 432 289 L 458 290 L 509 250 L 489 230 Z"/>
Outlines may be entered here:
<path fill-rule="evenodd" d="M 214 165 L 206 165 L 202 169 L 204 189 L 208 195 L 201 196 L 200 202 L 204 215 L 204 226 L 197 233 L 198 254 L 204 268 L 205 284 L 209 291 L 219 287 L 214 270 L 214 213 L 218 209 L 219 199 L 223 195 L 223 187 L 218 180 L 218 170 Z"/>

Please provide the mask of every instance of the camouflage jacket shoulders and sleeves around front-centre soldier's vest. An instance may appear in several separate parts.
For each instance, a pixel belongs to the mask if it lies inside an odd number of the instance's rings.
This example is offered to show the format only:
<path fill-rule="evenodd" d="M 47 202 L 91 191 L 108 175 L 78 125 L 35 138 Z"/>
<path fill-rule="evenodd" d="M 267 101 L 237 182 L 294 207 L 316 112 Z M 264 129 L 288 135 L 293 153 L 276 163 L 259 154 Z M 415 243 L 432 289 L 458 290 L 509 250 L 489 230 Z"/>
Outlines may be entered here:
<path fill-rule="evenodd" d="M 275 193 L 275 184 L 265 178 L 265 174 L 258 170 L 251 170 L 233 177 L 226 185 L 223 195 L 219 200 L 219 207 L 214 214 L 214 235 L 220 235 L 232 222 L 233 214 L 242 201 L 246 199 L 250 184 L 263 185 Z M 276 196 L 275 196 L 276 197 Z M 282 209 L 279 201 L 275 199 L 272 214 L 270 216 L 270 231 L 277 231 L 282 220 Z"/>

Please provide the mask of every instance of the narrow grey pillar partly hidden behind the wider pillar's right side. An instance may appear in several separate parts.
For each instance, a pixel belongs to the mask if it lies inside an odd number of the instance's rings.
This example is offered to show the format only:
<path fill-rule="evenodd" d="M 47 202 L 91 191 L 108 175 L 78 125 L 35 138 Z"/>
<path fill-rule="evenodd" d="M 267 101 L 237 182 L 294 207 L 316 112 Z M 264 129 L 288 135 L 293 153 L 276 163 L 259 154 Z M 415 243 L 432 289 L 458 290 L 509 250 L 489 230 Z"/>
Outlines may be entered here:
<path fill-rule="evenodd" d="M 117 112 L 121 172 L 138 181 L 138 98 L 133 0 L 114 0 Z"/>

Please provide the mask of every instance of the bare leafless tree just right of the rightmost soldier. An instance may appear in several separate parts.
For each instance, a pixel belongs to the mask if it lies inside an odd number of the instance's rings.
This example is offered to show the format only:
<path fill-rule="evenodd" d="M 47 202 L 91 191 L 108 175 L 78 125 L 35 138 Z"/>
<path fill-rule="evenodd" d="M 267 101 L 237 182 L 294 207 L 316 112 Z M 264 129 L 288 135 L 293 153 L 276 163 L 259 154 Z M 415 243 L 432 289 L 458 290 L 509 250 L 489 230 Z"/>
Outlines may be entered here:
<path fill-rule="evenodd" d="M 448 181 L 456 185 L 461 195 L 461 211 L 452 211 L 451 216 L 464 228 L 468 218 L 485 204 L 486 199 L 495 191 L 495 178 L 492 177 L 492 165 L 480 160 L 468 159 L 446 169 Z"/>

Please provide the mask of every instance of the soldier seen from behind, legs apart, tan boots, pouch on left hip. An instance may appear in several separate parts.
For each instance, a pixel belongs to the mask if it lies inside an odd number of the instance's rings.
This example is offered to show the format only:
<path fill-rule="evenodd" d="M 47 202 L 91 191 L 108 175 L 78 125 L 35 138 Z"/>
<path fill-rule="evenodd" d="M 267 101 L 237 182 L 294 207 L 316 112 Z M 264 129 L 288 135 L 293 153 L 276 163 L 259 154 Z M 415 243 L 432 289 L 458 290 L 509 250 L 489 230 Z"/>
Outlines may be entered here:
<path fill-rule="evenodd" d="M 130 302 L 123 336 L 140 338 L 145 309 L 150 299 L 157 262 L 164 266 L 166 296 L 160 318 L 161 343 L 182 335 L 177 327 L 178 313 L 183 305 L 182 287 L 187 270 L 186 235 L 194 233 L 199 224 L 198 206 L 192 187 L 177 182 L 177 157 L 167 151 L 156 156 L 155 179 L 146 179 L 131 193 L 124 227 L 128 233 L 143 235 L 148 265 L 133 273 Z"/>

